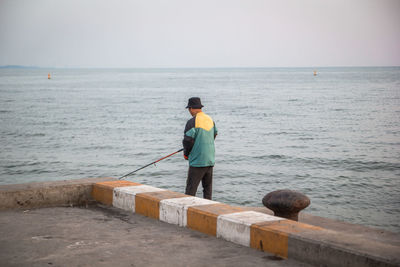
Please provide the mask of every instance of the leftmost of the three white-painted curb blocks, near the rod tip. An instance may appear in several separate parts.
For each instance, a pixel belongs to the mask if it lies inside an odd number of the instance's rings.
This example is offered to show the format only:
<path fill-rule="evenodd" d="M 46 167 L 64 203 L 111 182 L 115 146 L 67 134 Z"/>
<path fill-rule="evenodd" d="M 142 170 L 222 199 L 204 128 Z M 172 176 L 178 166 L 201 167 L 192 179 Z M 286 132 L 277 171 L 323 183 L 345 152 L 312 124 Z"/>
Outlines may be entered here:
<path fill-rule="evenodd" d="M 135 212 L 136 194 L 157 191 L 165 191 L 165 189 L 148 185 L 116 187 L 113 191 L 113 206 L 119 209 Z"/>

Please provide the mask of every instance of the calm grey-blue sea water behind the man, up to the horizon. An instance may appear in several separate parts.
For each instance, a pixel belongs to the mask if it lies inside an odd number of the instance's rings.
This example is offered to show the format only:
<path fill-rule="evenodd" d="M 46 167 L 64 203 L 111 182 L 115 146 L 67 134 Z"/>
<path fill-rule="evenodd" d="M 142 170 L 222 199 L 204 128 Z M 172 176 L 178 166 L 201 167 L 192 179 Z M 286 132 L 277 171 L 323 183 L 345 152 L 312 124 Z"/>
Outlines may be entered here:
<path fill-rule="evenodd" d="M 192 96 L 219 130 L 214 200 L 298 190 L 306 212 L 400 232 L 399 67 L 0 69 L 0 184 L 155 161 L 181 148 Z M 179 154 L 128 180 L 184 192 L 186 174 Z"/>

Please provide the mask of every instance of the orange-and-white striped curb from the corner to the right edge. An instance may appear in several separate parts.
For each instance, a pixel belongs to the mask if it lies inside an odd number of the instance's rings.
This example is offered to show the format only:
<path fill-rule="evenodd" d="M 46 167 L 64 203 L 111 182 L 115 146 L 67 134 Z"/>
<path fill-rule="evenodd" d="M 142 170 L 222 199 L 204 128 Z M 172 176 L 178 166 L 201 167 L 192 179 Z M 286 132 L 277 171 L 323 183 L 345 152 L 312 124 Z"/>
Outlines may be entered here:
<path fill-rule="evenodd" d="M 125 188 L 129 186 L 129 188 Z M 142 186 L 143 189 L 139 189 Z M 400 247 L 215 201 L 120 181 L 93 186 L 93 197 L 151 218 L 318 266 L 400 266 Z M 148 188 L 148 189 L 145 189 Z M 111 193 L 113 192 L 113 193 Z M 112 199 L 109 199 L 110 196 Z"/>

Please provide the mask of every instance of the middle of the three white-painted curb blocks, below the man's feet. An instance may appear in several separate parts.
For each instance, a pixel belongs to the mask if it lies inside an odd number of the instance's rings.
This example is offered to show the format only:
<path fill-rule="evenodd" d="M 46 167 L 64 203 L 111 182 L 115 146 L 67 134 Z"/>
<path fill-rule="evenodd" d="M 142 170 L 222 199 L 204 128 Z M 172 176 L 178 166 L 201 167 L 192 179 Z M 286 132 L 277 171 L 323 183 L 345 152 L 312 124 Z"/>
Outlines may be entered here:
<path fill-rule="evenodd" d="M 219 202 L 198 197 L 163 199 L 160 201 L 160 221 L 186 226 L 189 207 L 217 203 Z"/>

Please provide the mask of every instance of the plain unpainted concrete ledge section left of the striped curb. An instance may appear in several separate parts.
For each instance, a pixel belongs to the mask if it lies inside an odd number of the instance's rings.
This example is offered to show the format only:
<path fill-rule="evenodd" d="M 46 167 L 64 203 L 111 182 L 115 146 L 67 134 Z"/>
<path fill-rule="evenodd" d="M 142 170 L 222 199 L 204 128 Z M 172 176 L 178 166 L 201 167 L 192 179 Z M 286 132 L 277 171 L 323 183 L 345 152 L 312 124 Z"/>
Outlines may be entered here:
<path fill-rule="evenodd" d="M 94 201 L 93 184 L 113 178 L 87 178 L 0 186 L 0 210 L 82 205 Z"/>

